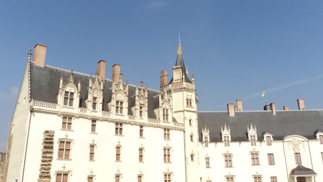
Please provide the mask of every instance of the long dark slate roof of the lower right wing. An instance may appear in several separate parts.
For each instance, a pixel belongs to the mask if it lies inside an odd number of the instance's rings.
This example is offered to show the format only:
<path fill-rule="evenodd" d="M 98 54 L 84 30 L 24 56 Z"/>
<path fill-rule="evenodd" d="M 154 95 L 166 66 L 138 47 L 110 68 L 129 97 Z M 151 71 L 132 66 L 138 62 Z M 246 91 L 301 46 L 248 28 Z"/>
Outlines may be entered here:
<path fill-rule="evenodd" d="M 314 132 L 323 130 L 323 110 L 276 111 L 238 111 L 229 116 L 227 111 L 198 112 L 199 139 L 202 141 L 202 128 L 209 128 L 210 142 L 222 142 L 221 126 L 226 122 L 230 126 L 231 141 L 248 141 L 247 126 L 256 126 L 257 140 L 263 140 L 267 130 L 274 140 L 283 140 L 287 135 L 301 135 L 307 139 L 316 139 Z"/>

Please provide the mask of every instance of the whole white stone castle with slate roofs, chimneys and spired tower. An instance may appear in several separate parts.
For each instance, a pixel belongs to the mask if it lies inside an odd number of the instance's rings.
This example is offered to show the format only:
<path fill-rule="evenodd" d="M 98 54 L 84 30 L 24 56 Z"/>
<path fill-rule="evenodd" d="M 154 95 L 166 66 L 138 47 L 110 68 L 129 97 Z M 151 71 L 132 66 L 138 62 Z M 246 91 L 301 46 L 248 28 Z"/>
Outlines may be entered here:
<path fill-rule="evenodd" d="M 197 110 L 194 76 L 178 47 L 160 90 L 45 65 L 29 53 L 11 122 L 2 181 L 323 181 L 323 110 Z M 203 88 L 199 88 L 203 89 Z M 203 103 L 201 103 L 203 104 Z"/>

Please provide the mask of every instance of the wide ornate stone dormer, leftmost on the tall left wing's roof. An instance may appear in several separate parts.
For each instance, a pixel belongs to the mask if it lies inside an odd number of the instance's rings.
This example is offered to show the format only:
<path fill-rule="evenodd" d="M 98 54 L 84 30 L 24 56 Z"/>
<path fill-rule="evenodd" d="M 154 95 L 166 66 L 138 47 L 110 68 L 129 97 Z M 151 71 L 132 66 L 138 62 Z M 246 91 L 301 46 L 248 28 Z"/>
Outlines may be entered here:
<path fill-rule="evenodd" d="M 60 80 L 60 90 L 58 94 L 58 105 L 60 108 L 78 108 L 80 104 L 81 83 L 79 81 L 76 87 L 73 80 L 73 70 L 70 72 L 70 78 L 64 82 L 63 75 Z M 64 83 L 63 83 L 64 82 Z"/>

